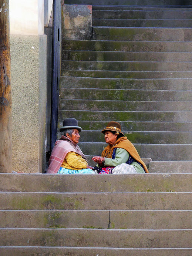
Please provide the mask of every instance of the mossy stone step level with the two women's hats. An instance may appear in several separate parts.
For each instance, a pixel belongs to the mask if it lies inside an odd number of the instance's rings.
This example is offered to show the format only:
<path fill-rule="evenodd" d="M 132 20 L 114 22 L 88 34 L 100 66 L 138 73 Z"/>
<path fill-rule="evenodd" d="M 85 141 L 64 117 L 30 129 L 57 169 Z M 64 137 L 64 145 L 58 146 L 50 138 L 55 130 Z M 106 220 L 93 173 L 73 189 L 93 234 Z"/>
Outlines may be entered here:
<path fill-rule="evenodd" d="M 118 120 L 117 120 L 118 121 Z M 102 131 L 109 121 L 78 121 L 83 130 Z M 192 122 L 141 122 L 118 121 L 122 131 L 191 131 Z M 58 128 L 63 126 L 63 120 L 58 120 Z M 81 135 L 81 134 L 80 134 Z"/>

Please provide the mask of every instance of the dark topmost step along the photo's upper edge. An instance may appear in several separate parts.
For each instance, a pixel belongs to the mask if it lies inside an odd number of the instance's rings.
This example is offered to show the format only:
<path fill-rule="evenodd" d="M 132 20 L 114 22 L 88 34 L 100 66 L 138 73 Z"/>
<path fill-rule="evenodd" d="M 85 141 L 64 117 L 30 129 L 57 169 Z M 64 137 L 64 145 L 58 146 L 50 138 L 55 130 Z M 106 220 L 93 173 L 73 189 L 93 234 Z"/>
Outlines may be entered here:
<path fill-rule="evenodd" d="M 180 6 L 180 0 L 65 0 L 65 4 L 91 4 L 101 6 Z M 191 0 L 183 0 L 183 6 L 192 5 Z"/>

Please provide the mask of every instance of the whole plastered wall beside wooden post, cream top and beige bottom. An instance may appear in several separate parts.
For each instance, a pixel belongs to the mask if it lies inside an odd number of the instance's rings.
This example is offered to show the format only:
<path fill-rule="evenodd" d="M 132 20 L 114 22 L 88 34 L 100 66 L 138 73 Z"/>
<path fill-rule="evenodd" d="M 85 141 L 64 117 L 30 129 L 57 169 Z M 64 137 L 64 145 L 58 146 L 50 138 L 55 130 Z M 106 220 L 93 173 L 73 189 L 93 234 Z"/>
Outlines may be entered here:
<path fill-rule="evenodd" d="M 13 171 L 46 167 L 46 60 L 44 1 L 10 0 Z"/>

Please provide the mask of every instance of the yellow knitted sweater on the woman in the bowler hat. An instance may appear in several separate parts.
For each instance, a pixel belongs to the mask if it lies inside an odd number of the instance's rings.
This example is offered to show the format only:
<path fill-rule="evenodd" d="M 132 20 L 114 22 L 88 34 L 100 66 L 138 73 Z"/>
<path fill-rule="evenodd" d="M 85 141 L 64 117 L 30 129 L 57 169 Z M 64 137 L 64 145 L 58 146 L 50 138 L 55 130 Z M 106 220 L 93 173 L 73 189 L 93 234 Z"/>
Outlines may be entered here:
<path fill-rule="evenodd" d="M 61 167 L 70 170 L 81 170 L 87 168 L 87 161 L 75 152 L 68 152 Z"/>

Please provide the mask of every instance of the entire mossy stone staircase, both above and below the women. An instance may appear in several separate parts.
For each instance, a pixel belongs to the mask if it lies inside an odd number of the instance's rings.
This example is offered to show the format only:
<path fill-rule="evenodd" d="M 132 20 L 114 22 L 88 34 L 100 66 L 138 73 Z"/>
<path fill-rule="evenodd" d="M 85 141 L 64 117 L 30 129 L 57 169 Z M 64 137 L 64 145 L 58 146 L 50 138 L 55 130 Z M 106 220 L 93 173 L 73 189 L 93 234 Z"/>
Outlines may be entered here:
<path fill-rule="evenodd" d="M 63 41 L 58 127 L 78 119 L 92 164 L 119 121 L 151 173 L 0 174 L 1 256 L 192 255 L 192 28 L 179 2 L 97 0 L 93 40 Z"/>

